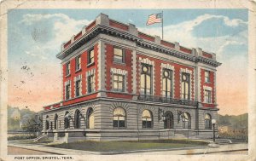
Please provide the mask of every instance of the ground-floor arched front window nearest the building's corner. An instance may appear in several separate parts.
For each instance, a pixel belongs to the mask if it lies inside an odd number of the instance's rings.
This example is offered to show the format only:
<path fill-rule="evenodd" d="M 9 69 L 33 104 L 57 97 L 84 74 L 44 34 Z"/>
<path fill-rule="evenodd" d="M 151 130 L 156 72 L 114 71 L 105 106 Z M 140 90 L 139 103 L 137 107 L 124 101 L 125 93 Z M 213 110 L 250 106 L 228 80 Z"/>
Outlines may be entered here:
<path fill-rule="evenodd" d="M 126 112 L 123 108 L 117 107 L 113 110 L 113 127 L 125 128 Z"/>

